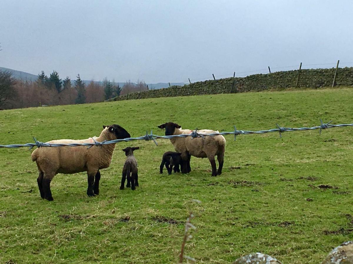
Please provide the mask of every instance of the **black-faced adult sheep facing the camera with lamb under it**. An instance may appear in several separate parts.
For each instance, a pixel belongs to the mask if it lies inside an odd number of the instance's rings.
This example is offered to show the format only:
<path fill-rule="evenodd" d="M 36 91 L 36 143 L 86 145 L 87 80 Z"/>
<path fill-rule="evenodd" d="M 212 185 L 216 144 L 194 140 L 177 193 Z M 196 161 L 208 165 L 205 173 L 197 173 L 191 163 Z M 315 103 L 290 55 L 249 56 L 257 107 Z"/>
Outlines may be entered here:
<path fill-rule="evenodd" d="M 193 131 L 189 129 L 181 129 L 176 123 L 167 122 L 165 124 L 159 125 L 159 128 L 166 129 L 166 136 L 179 135 L 179 134 L 190 134 Z M 218 131 L 213 131 L 209 129 L 198 130 L 197 132 L 201 134 L 218 133 Z M 175 137 L 170 138 L 175 151 L 181 153 L 181 158 L 183 159 L 183 166 L 181 167 L 181 172 L 188 173 L 191 171 L 190 158 L 191 156 L 198 158 L 208 158 L 212 166 L 212 176 L 217 176 L 222 174 L 224 152 L 226 149 L 226 139 L 222 135 L 214 137 L 204 137 L 204 138 L 192 138 L 192 137 Z M 219 168 L 216 168 L 215 156 L 219 163 Z"/>

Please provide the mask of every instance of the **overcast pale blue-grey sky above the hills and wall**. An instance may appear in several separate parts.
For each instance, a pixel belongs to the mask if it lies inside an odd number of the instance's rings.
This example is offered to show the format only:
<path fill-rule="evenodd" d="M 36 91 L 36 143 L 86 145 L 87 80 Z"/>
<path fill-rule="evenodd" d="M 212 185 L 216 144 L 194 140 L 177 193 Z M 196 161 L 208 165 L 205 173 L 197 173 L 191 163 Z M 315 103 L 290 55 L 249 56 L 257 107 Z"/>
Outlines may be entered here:
<path fill-rule="evenodd" d="M 352 11 L 352 0 L 1 0 L 0 67 L 154 83 L 353 66 Z"/>

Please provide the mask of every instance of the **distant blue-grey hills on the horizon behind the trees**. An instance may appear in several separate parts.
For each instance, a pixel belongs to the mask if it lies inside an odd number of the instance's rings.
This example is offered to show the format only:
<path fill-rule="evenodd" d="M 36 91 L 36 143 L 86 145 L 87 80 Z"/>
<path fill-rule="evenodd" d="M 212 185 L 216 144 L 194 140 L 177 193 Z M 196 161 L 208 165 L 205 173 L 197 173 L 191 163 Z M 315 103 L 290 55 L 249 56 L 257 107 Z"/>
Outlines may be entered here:
<path fill-rule="evenodd" d="M 30 73 L 25 73 L 24 71 L 18 71 L 18 70 L 13 70 L 13 69 L 8 69 L 8 68 L 3 68 L 0 67 L 0 70 L 2 71 L 10 71 L 12 73 L 12 76 L 18 80 L 27 80 L 27 81 L 36 81 L 38 78 L 38 75 L 34 75 L 34 74 L 30 74 Z M 71 80 L 72 85 L 74 85 L 74 80 Z M 91 81 L 90 80 L 83 80 L 83 82 L 85 84 L 89 84 Z M 95 81 L 98 83 L 102 83 L 103 81 Z M 125 82 L 115 82 L 114 84 L 118 85 L 120 87 L 124 86 Z M 167 88 L 169 87 L 168 83 L 164 83 L 164 82 L 158 82 L 158 83 L 146 83 L 148 85 L 149 89 L 160 89 L 160 88 Z M 178 82 L 178 83 L 170 83 L 170 85 L 180 85 L 183 86 L 185 83 L 182 82 Z"/>

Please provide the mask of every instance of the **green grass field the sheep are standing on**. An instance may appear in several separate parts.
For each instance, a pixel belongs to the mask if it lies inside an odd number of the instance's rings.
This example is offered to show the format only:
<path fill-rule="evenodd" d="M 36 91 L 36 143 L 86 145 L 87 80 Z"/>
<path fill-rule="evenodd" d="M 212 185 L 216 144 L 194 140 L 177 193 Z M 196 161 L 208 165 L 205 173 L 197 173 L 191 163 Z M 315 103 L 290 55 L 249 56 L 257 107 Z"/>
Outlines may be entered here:
<path fill-rule="evenodd" d="M 1 144 L 98 136 L 119 124 L 131 136 L 157 125 L 232 131 L 353 122 L 353 89 L 131 100 L 0 112 Z M 353 128 L 226 136 L 223 174 L 191 158 L 190 174 L 159 174 L 169 140 L 116 145 L 100 195 L 86 174 L 56 175 L 42 200 L 29 151 L 0 149 L 0 263 L 175 263 L 188 211 L 197 227 L 185 254 L 231 263 L 255 251 L 283 263 L 320 263 L 353 238 Z M 139 164 L 136 191 L 119 190 L 126 146 Z M 319 188 L 321 184 L 334 188 Z M 191 199 L 202 203 L 192 203 Z M 9 262 L 12 261 L 12 262 Z"/>

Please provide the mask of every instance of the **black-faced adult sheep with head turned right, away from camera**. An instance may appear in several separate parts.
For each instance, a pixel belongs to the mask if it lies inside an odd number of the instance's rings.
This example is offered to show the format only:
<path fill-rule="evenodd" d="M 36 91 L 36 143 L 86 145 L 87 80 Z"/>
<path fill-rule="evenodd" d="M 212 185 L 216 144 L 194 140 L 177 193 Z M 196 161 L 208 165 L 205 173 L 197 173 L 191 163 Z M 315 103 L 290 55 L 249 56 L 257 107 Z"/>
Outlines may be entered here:
<path fill-rule="evenodd" d="M 130 138 L 130 134 L 119 125 L 103 126 L 99 137 L 72 140 L 59 139 L 46 143 L 70 144 L 70 143 L 93 143 L 94 140 Z M 92 146 L 63 146 L 63 147 L 40 147 L 32 152 L 32 161 L 37 163 L 39 176 L 37 178 L 38 188 L 42 199 L 53 201 L 50 190 L 50 182 L 58 173 L 74 174 L 86 171 L 88 175 L 87 195 L 99 194 L 100 169 L 108 168 L 112 161 L 115 144 L 106 144 L 101 147 Z"/>

